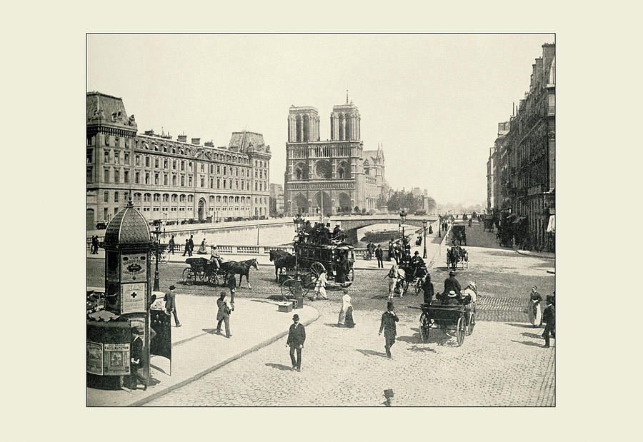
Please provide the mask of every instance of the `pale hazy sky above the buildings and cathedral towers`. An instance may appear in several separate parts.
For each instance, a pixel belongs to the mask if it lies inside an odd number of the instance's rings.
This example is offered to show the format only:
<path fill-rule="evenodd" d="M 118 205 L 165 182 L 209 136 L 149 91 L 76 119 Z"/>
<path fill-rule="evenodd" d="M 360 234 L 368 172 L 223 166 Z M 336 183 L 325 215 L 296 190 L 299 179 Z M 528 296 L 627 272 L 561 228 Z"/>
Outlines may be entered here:
<path fill-rule="evenodd" d="M 364 149 L 384 145 L 394 189 L 486 206 L 497 124 L 529 90 L 544 43 L 553 34 L 89 35 L 87 90 L 121 97 L 140 133 L 215 146 L 264 134 L 270 181 L 283 184 L 291 104 L 315 106 L 329 139 L 348 89 Z"/>

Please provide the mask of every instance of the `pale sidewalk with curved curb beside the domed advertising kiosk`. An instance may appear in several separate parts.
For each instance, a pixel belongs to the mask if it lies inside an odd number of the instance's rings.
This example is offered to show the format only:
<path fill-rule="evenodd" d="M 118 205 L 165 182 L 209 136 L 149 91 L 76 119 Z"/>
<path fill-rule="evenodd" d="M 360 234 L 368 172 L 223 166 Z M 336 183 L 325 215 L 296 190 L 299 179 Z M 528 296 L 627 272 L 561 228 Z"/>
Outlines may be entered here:
<path fill-rule="evenodd" d="M 170 361 L 162 356 L 152 356 L 150 385 L 146 391 L 141 390 L 142 387 L 131 392 L 87 388 L 87 406 L 143 405 L 286 336 L 294 313 L 299 314 L 301 323 L 306 326 L 319 318 L 319 311 L 311 306 L 282 313 L 274 303 L 264 299 L 239 297 L 235 299 L 235 309 L 230 316 L 232 337 L 226 338 L 224 324 L 221 324 L 223 334 L 214 333 L 215 296 L 177 293 L 176 306 L 182 326 L 171 328 L 171 376 Z M 285 347 L 284 365 L 290 365 Z"/>

